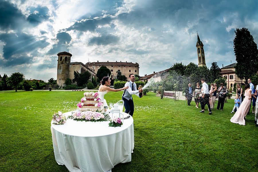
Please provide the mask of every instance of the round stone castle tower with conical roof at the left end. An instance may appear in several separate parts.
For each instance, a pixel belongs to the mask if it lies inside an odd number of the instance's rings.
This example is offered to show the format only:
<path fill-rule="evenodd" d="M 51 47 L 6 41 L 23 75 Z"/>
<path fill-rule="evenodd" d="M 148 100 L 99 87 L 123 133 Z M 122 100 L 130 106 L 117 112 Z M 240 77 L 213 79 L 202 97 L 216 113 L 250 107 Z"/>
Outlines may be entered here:
<path fill-rule="evenodd" d="M 69 52 L 59 52 L 57 62 L 57 77 L 56 82 L 60 86 L 64 87 L 65 80 L 69 78 L 69 63 L 71 62 L 71 56 Z"/>

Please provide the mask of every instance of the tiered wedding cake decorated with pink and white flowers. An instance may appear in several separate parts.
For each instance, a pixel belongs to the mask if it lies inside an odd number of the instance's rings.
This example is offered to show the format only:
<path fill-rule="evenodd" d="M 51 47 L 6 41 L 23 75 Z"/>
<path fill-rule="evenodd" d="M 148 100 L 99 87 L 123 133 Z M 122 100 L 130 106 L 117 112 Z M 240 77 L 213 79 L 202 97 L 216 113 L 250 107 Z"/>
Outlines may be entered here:
<path fill-rule="evenodd" d="M 84 97 L 81 98 L 81 102 L 77 104 L 80 111 L 103 111 L 103 103 L 99 98 L 98 92 L 85 92 Z"/>

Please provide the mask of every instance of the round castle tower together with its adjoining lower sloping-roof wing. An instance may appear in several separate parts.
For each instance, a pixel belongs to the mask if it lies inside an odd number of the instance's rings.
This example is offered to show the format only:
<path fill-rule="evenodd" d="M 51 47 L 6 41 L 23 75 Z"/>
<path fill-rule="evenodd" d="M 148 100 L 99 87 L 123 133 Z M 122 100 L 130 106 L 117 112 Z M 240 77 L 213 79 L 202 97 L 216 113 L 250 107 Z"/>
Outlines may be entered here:
<path fill-rule="evenodd" d="M 91 78 L 96 78 L 96 73 L 89 69 L 89 67 L 85 66 L 82 62 L 71 62 L 71 56 L 69 52 L 59 52 L 57 54 L 58 62 L 57 62 L 57 84 L 59 86 L 66 86 L 65 80 L 70 78 L 71 80 L 74 79 L 74 71 L 79 73 L 84 73 L 88 71 L 91 74 Z M 90 78 L 90 79 L 91 79 Z M 73 82 L 73 84 L 76 84 Z"/>

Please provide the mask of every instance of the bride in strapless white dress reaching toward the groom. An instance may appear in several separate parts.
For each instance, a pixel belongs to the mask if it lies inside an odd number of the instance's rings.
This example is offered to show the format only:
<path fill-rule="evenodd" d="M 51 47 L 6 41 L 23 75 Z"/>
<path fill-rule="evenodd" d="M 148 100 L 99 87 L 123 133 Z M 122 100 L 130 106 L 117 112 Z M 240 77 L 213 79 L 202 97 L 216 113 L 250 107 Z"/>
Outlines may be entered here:
<path fill-rule="evenodd" d="M 120 88 L 120 89 L 113 89 L 108 87 L 110 85 L 110 78 L 109 77 L 103 77 L 103 79 L 100 81 L 101 85 L 99 86 L 99 98 L 101 99 L 101 101 L 104 103 L 103 106 L 107 107 L 107 101 L 104 99 L 104 95 L 108 92 L 108 91 L 113 91 L 113 92 L 117 92 L 117 91 L 121 91 L 121 90 L 125 90 L 128 89 L 128 87 L 124 87 L 124 88 Z"/>

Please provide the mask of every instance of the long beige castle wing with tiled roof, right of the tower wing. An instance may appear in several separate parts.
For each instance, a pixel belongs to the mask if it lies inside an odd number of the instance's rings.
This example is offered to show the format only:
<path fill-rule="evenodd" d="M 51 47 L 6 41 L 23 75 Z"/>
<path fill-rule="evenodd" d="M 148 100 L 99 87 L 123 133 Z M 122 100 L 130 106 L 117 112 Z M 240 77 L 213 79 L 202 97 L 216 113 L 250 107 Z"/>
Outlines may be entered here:
<path fill-rule="evenodd" d="M 139 75 L 139 64 L 132 63 L 132 62 L 87 62 L 85 64 L 87 67 L 89 67 L 92 71 L 96 72 L 99 70 L 101 66 L 107 67 L 111 71 L 111 75 L 113 75 L 114 78 L 116 78 L 117 71 L 120 71 L 122 75 L 126 76 L 127 79 L 129 79 L 129 75 L 131 73 Z"/>

